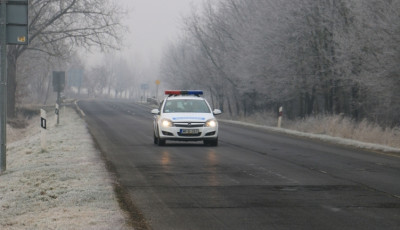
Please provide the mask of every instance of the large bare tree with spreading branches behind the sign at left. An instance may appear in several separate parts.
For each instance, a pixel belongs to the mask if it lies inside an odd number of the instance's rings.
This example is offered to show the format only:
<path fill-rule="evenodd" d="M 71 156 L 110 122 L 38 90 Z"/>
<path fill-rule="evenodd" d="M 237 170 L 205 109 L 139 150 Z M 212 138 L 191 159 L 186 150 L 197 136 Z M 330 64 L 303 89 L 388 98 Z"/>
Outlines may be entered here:
<path fill-rule="evenodd" d="M 8 116 L 15 116 L 17 60 L 27 50 L 68 56 L 74 46 L 117 48 L 122 11 L 111 0 L 32 0 L 29 46 L 9 46 Z"/>

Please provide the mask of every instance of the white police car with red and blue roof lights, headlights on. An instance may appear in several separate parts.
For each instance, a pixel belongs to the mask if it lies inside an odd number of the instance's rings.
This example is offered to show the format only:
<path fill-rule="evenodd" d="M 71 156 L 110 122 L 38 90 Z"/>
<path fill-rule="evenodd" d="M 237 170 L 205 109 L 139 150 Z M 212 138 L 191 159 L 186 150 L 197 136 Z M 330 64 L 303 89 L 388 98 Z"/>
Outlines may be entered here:
<path fill-rule="evenodd" d="M 153 109 L 154 144 L 165 145 L 167 140 L 203 141 L 205 145 L 218 145 L 218 122 L 214 115 L 221 110 L 211 110 L 201 97 L 200 90 L 168 90 L 168 95 L 158 109 Z"/>

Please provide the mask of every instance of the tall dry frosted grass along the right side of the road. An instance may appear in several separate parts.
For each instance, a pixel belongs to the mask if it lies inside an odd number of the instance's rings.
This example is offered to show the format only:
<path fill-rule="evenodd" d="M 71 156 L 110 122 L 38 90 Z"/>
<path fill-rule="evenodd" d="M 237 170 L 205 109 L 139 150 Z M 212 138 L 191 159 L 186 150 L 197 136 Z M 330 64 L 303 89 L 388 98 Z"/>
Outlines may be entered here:
<path fill-rule="evenodd" d="M 267 127 L 276 127 L 278 123 L 276 115 L 268 112 L 258 113 L 248 117 L 235 118 L 229 118 L 225 115 L 222 118 Z M 282 128 L 319 135 L 321 138 L 331 136 L 354 140 L 358 141 L 357 144 L 354 142 L 354 145 L 358 147 L 361 147 L 360 142 L 365 142 L 369 144 L 400 148 L 400 127 L 392 129 L 382 128 L 379 125 L 366 120 L 363 120 L 362 122 L 354 122 L 353 120 L 342 116 L 320 116 L 290 121 L 283 117 Z M 295 135 L 303 134 L 296 133 Z"/>

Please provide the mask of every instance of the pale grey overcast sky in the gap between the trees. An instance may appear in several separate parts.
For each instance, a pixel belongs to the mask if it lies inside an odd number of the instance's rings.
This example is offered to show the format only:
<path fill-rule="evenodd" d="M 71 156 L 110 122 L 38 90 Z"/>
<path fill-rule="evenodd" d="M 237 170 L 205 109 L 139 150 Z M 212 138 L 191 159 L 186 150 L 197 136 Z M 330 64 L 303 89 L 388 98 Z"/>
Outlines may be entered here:
<path fill-rule="evenodd" d="M 126 43 L 132 52 L 158 54 L 168 41 L 177 38 L 181 18 L 192 5 L 202 0 L 124 0 L 130 9 L 127 25 L 130 34 Z"/>

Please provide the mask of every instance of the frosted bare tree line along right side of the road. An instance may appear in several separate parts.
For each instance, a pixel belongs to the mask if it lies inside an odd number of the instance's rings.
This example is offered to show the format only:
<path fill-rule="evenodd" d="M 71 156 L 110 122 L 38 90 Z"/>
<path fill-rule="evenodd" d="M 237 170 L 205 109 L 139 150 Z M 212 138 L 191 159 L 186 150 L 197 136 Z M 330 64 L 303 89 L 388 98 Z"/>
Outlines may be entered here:
<path fill-rule="evenodd" d="M 400 124 L 400 1 L 206 1 L 163 57 L 172 87 L 232 116 L 343 114 Z"/>

